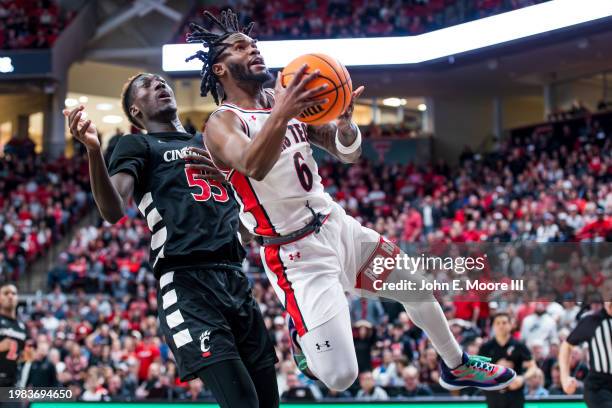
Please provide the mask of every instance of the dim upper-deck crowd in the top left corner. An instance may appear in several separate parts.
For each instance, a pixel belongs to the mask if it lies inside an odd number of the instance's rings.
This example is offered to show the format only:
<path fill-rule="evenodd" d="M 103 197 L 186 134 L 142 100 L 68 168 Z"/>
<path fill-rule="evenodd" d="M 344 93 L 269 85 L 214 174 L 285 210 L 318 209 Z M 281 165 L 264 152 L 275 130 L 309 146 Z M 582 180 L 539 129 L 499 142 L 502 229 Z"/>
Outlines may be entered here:
<path fill-rule="evenodd" d="M 50 48 L 72 17 L 57 0 L 0 0 L 0 49 Z"/>

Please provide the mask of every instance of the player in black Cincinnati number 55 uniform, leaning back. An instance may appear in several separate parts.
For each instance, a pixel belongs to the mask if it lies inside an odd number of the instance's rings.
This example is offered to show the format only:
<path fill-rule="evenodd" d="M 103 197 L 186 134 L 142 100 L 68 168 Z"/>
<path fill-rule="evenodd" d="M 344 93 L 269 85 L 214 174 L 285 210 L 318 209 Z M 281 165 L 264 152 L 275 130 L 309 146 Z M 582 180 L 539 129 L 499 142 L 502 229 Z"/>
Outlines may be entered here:
<path fill-rule="evenodd" d="M 198 174 L 216 171 L 202 156 L 202 135 L 185 131 L 174 92 L 158 75 L 132 77 L 122 105 L 147 133 L 122 136 L 108 170 L 83 106 L 64 114 L 87 148 L 102 217 L 118 222 L 134 199 L 147 220 L 161 330 L 181 380 L 201 378 L 222 407 L 277 407 L 276 354 L 241 272 L 237 205 L 211 174 Z"/>

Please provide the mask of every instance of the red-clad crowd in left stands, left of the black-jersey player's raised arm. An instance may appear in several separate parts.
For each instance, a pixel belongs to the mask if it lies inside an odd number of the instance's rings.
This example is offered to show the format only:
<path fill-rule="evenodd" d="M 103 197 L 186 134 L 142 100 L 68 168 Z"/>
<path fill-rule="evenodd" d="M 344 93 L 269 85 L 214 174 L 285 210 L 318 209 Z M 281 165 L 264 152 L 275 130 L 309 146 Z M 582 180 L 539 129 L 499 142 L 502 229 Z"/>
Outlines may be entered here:
<path fill-rule="evenodd" d="M 0 160 L 0 282 L 18 280 L 91 209 L 87 161 L 49 161 L 25 140 L 9 141 Z"/>

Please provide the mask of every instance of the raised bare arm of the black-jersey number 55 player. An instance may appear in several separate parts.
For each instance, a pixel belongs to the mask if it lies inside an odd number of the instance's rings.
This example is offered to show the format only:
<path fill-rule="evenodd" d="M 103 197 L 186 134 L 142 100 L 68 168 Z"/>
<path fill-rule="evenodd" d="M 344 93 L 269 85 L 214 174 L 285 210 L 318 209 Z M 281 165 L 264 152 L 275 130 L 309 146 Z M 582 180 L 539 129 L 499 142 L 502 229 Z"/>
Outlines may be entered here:
<path fill-rule="evenodd" d="M 72 111 L 64 109 L 63 113 L 68 118 L 72 137 L 87 148 L 89 180 L 98 210 L 102 218 L 114 224 L 125 214 L 125 207 L 134 192 L 134 177 L 127 173 L 108 175 L 98 131 L 91 120 L 81 118 L 83 109 L 79 106 Z"/>

